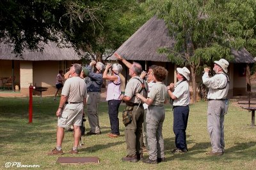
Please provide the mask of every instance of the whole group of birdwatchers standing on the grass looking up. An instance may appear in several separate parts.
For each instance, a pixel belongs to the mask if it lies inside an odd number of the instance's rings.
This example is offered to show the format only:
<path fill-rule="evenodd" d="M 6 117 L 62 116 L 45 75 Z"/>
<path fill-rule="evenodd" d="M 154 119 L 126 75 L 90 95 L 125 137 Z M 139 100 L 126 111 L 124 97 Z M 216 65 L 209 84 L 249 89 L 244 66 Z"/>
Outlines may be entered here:
<path fill-rule="evenodd" d="M 84 106 L 87 105 L 90 131 L 88 135 L 101 134 L 98 115 L 98 104 L 103 80 L 108 80 L 106 101 L 108 101 L 109 121 L 111 132 L 109 138 L 120 136 L 118 108 L 125 102 L 131 117 L 125 124 L 125 142 L 127 156 L 122 160 L 129 162 L 143 162 L 157 164 L 166 160 L 164 155 L 163 122 L 165 118 L 164 104 L 170 100 L 173 106 L 173 132 L 175 146 L 173 153 L 186 153 L 186 128 L 189 117 L 189 70 L 187 67 L 177 68 L 176 84 L 164 85 L 168 71 L 161 66 L 150 66 L 148 72 L 142 71 L 139 63 L 130 63 L 115 53 L 116 59 L 129 68 L 131 79 L 125 86 L 124 94 L 120 90 L 121 64 L 107 64 L 90 62 L 86 68 L 79 64 L 70 67 L 71 78 L 65 82 L 61 92 L 58 117 L 56 148 L 49 155 L 63 154 L 61 143 L 64 137 L 64 128 L 74 125 L 74 146 L 70 153 L 77 153 L 77 146 L 81 138 L 81 120 Z M 209 77 L 209 68 L 205 68 L 203 83 L 209 88 L 207 98 L 207 129 L 211 138 L 212 150 L 208 155 L 222 155 L 224 153 L 224 115 L 227 113 L 225 99 L 229 88 L 227 76 L 228 62 L 220 59 L 214 62 L 215 75 Z M 94 71 L 92 70 L 94 67 Z M 109 69 L 111 74 L 108 74 Z M 79 76 L 83 75 L 84 81 Z M 83 83 L 82 83 L 83 82 Z M 144 123 L 143 123 L 144 122 Z M 143 139 L 143 134 L 146 136 Z M 148 150 L 148 159 L 143 158 L 143 146 Z"/>

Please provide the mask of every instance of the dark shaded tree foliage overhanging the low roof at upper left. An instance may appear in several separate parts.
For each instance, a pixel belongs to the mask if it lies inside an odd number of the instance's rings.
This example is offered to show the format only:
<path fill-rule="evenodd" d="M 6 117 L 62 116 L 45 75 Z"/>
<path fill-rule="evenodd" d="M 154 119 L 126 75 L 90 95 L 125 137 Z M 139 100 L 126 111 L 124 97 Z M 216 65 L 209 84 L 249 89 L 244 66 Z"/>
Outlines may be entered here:
<path fill-rule="evenodd" d="M 81 0 L 4 0 L 0 1 L 0 41 L 13 45 L 13 52 L 24 48 L 44 50 L 39 43 L 64 39 L 66 31 L 83 23 L 97 22 L 100 10 Z"/>

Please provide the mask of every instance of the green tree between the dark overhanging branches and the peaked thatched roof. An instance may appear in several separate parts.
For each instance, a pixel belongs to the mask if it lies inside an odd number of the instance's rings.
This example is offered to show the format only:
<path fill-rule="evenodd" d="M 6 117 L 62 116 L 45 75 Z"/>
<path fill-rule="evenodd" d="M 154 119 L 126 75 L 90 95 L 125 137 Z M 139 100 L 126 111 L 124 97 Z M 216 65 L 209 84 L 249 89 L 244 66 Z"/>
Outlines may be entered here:
<path fill-rule="evenodd" d="M 81 24 L 68 34 L 77 50 L 86 52 L 87 59 L 108 59 L 147 20 L 136 0 L 102 0 L 93 6 L 100 7 L 95 13 L 99 22 Z"/>

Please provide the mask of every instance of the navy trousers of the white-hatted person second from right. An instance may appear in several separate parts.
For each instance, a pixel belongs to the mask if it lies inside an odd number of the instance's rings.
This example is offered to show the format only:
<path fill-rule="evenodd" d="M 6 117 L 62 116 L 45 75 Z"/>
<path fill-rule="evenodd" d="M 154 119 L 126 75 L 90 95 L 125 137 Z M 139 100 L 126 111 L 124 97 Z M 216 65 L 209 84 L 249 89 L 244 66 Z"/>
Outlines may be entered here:
<path fill-rule="evenodd" d="M 175 145 L 180 150 L 187 148 L 186 129 L 188 125 L 189 106 L 173 107 L 173 132 L 175 134 Z"/>

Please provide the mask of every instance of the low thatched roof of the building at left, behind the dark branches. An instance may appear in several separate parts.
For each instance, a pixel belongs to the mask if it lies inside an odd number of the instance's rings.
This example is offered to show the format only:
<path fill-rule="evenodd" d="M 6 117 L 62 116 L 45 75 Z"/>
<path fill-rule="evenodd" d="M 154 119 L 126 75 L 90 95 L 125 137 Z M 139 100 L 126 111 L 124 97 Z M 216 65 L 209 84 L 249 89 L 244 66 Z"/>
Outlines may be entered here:
<path fill-rule="evenodd" d="M 81 60 L 74 48 L 59 48 L 54 42 L 45 44 L 43 52 L 24 50 L 22 57 L 16 57 L 12 50 L 12 46 L 0 43 L 0 60 Z"/>

